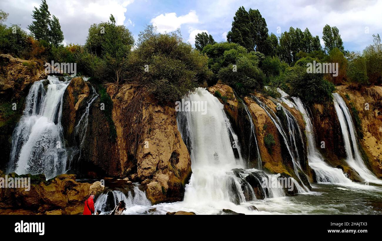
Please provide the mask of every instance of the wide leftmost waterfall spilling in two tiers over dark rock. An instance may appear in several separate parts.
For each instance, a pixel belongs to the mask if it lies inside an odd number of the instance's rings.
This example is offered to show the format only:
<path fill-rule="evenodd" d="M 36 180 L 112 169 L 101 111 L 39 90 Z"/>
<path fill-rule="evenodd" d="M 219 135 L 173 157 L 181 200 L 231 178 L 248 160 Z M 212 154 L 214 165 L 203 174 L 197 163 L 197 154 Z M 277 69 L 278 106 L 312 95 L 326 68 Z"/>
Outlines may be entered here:
<path fill-rule="evenodd" d="M 33 83 L 23 116 L 13 131 L 9 171 L 44 173 L 46 178 L 65 172 L 67 153 L 61 114 L 69 82 L 48 76 Z"/>

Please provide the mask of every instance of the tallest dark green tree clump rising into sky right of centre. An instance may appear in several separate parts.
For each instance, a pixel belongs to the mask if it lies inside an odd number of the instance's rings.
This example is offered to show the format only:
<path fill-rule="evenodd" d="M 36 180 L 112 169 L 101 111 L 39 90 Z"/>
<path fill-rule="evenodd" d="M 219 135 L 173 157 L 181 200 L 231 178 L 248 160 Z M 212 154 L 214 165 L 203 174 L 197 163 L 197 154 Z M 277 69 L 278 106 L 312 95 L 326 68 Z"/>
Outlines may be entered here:
<path fill-rule="evenodd" d="M 241 6 L 233 17 L 231 31 L 227 33 L 227 41 L 240 44 L 248 52 L 267 49 L 268 27 L 259 10 Z"/>

